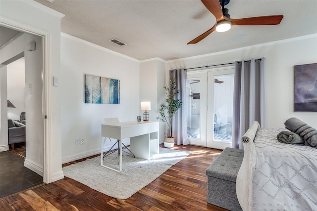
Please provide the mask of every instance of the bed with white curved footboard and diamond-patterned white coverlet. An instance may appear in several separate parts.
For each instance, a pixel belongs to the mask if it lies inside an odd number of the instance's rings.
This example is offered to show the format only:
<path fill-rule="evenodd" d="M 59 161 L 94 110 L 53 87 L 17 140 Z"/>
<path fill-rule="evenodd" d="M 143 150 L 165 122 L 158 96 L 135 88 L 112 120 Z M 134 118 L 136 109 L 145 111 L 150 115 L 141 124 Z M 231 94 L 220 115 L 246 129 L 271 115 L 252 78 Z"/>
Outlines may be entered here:
<path fill-rule="evenodd" d="M 317 149 L 278 142 L 283 130 L 255 121 L 242 137 L 236 190 L 244 211 L 317 211 Z"/>

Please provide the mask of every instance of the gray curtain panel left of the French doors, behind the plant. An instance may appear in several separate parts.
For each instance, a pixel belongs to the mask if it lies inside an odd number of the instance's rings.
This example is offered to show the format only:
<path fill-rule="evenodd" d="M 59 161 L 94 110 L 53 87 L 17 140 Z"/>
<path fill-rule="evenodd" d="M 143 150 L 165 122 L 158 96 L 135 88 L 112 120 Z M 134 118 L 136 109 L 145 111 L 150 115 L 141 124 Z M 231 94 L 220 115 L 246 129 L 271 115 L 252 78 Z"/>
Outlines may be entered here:
<path fill-rule="evenodd" d="M 187 123 L 186 123 L 186 71 L 184 69 L 170 70 L 169 78 L 175 78 L 176 88 L 180 92 L 176 95 L 177 99 L 180 99 L 182 107 L 177 111 L 176 115 L 172 119 L 172 135 L 176 140 L 177 145 L 189 144 L 187 136 Z"/>

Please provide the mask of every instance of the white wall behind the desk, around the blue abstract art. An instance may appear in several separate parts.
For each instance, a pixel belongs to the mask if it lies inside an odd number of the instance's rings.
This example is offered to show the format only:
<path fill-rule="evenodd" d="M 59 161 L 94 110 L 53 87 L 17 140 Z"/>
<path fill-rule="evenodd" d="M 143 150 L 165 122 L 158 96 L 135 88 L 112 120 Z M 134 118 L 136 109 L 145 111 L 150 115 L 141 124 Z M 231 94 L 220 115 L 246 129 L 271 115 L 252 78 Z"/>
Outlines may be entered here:
<path fill-rule="evenodd" d="M 120 104 L 85 104 L 85 74 L 120 80 Z M 139 82 L 138 60 L 61 34 L 63 163 L 100 153 L 104 118 L 136 121 L 140 115 Z M 76 138 L 84 138 L 84 144 L 75 145 Z M 114 143 L 106 141 L 105 150 Z"/>

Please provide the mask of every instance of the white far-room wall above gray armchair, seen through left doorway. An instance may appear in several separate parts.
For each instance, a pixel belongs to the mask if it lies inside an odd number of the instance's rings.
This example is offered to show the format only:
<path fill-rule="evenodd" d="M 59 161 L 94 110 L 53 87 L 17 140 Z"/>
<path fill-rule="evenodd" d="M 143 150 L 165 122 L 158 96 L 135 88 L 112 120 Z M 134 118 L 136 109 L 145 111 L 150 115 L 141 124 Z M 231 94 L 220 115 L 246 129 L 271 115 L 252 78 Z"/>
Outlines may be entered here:
<path fill-rule="evenodd" d="M 7 98 L 15 106 L 8 109 L 9 118 L 20 120 L 21 112 L 25 112 L 25 68 L 24 57 L 8 64 L 7 70 Z"/>

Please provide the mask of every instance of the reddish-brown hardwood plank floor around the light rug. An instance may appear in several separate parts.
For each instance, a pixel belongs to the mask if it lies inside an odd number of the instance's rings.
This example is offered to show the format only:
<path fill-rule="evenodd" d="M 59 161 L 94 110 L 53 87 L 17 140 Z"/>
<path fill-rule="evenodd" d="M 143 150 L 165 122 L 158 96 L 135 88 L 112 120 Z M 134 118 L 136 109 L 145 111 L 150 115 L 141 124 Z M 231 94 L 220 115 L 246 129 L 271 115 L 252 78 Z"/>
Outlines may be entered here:
<path fill-rule="evenodd" d="M 161 147 L 163 147 L 161 145 Z M 206 169 L 221 150 L 175 146 L 191 154 L 126 200 L 65 177 L 0 200 L 1 211 L 226 211 L 207 203 Z M 71 162 L 63 166 L 83 161 Z"/>

